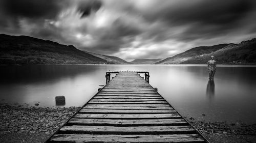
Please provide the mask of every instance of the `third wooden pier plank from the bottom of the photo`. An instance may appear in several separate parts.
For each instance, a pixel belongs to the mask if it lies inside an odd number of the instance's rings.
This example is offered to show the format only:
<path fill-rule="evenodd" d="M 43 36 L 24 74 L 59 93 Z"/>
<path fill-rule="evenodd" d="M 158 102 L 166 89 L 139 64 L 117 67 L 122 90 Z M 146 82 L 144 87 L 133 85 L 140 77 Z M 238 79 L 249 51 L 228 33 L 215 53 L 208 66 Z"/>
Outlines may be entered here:
<path fill-rule="evenodd" d="M 140 120 L 121 120 L 121 119 L 76 119 L 72 118 L 69 125 L 94 125 L 94 126 L 181 126 L 188 125 L 184 119 L 140 119 Z"/>

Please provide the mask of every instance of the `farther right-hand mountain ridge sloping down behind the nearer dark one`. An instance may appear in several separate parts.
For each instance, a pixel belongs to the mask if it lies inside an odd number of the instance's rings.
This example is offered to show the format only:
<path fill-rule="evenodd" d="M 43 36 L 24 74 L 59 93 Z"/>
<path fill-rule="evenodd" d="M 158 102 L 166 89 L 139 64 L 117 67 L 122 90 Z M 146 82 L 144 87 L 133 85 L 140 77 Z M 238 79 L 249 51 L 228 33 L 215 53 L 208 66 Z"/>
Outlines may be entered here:
<path fill-rule="evenodd" d="M 183 62 L 193 58 L 194 56 L 202 55 L 205 53 L 211 53 L 227 45 L 229 44 L 219 44 L 214 46 L 200 46 L 191 48 L 189 50 L 186 50 L 185 52 L 176 54 L 172 57 L 156 62 L 155 64 L 182 64 Z"/>

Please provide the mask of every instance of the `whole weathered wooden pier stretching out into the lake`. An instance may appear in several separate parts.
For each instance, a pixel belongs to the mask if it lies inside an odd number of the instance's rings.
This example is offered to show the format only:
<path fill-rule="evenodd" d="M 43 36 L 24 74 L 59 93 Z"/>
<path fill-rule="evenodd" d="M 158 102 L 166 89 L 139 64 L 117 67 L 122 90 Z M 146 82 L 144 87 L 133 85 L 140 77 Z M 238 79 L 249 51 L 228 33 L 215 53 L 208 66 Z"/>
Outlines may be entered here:
<path fill-rule="evenodd" d="M 208 142 L 148 83 L 148 72 L 105 77 L 107 84 L 46 142 Z"/>

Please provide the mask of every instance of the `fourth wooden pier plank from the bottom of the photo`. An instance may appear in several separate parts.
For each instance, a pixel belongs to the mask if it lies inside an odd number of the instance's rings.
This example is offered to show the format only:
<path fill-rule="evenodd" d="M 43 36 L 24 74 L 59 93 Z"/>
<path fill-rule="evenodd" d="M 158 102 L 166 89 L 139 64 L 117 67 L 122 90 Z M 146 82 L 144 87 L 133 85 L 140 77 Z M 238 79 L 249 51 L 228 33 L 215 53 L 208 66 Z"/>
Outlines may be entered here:
<path fill-rule="evenodd" d="M 178 113 L 151 113 L 151 114 L 90 114 L 77 113 L 74 118 L 91 119 L 177 119 L 182 118 Z"/>

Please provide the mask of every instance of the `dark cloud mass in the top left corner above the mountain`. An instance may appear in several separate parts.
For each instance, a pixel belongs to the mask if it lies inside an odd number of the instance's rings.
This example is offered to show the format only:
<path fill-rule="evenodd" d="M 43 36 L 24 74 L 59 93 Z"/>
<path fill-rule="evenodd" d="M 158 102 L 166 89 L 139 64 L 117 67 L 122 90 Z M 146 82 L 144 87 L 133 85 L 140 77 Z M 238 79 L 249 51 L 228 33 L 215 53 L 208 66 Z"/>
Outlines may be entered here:
<path fill-rule="evenodd" d="M 1 0 L 0 32 L 21 35 L 27 34 L 23 33 L 20 24 L 21 19 L 26 20 L 27 23 L 33 24 L 40 29 L 44 26 L 45 19 L 55 19 L 68 3 L 66 0 Z M 38 38 L 45 38 L 44 36 L 41 35 Z"/>

